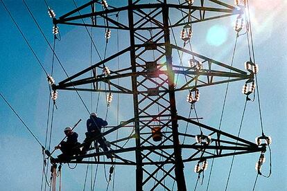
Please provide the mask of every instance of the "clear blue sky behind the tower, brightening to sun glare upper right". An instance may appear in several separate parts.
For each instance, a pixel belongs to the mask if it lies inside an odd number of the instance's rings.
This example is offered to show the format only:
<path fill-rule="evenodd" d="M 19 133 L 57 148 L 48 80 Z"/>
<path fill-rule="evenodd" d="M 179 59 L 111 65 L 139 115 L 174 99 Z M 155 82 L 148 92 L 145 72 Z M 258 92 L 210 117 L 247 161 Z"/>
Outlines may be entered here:
<path fill-rule="evenodd" d="M 47 46 L 40 31 L 35 26 L 31 16 L 24 7 L 22 1 L 3 0 L 8 6 L 12 16 L 19 24 L 24 35 L 31 43 L 35 53 L 43 63 L 44 68 L 51 71 L 52 53 Z M 196 0 L 195 0 L 196 1 Z M 39 22 L 49 42 L 53 43 L 52 22 L 47 15 L 44 1 L 26 1 L 35 18 Z M 78 5 L 82 1 L 76 1 Z M 114 1 L 110 1 L 111 4 Z M 233 3 L 233 1 L 227 1 Z M 48 1 L 49 6 L 55 10 L 56 17 L 63 15 L 73 9 L 73 1 Z M 252 19 L 252 33 L 254 37 L 254 50 L 256 63 L 259 64 L 259 92 L 263 114 L 263 126 L 266 135 L 272 136 L 272 176 L 264 179 L 259 176 L 256 190 L 286 190 L 286 82 L 287 82 L 287 27 L 286 10 L 287 2 L 275 0 L 266 2 L 263 0 L 250 1 Z M 33 133 L 45 141 L 47 109 L 49 101 L 49 89 L 46 82 L 46 75 L 35 60 L 35 57 L 28 49 L 26 42 L 19 31 L 12 23 L 3 5 L 0 3 L 1 17 L 1 38 L 0 38 L 0 91 L 12 104 L 21 118 L 31 128 Z M 232 59 L 232 48 L 234 46 L 235 32 L 233 23 L 236 17 L 227 17 L 216 21 L 195 24 L 193 26 L 193 51 L 200 53 L 214 60 L 230 64 Z M 57 42 L 55 52 L 60 58 L 69 75 L 80 69 L 85 69 L 90 64 L 89 47 L 90 41 L 85 28 L 73 26 L 59 26 L 62 40 Z M 120 32 L 119 42 L 121 48 L 125 48 L 128 42 Z M 94 39 L 103 56 L 103 30 L 94 30 Z M 108 55 L 116 52 L 116 31 L 112 30 L 112 37 L 108 47 Z M 183 60 L 187 61 L 187 57 Z M 234 66 L 244 70 L 244 62 L 248 60 L 246 37 L 238 39 L 238 48 L 234 60 Z M 125 62 L 125 57 L 120 58 Z M 174 57 L 178 62 L 178 57 Z M 93 63 L 98 62 L 94 53 Z M 185 63 L 185 62 L 184 62 Z M 187 63 L 187 62 L 186 62 Z M 115 66 L 114 66 L 115 67 Z M 64 80 L 65 75 L 59 64 L 55 62 L 54 75 L 56 82 Z M 237 134 L 245 97 L 241 93 L 244 82 L 230 84 L 227 106 L 223 117 L 223 131 L 230 134 Z M 220 111 L 223 104 L 226 84 L 205 87 L 200 90 L 200 102 L 197 104 L 198 115 L 204 117 L 201 121 L 207 125 L 218 127 Z M 80 93 L 87 103 L 89 109 L 95 111 L 96 96 L 93 96 L 93 105 L 90 93 Z M 189 107 L 186 104 L 186 92 L 177 95 L 177 107 L 179 113 L 187 116 Z M 132 106 L 129 96 L 120 96 L 119 120 L 132 118 Z M 62 139 L 62 129 L 71 126 L 82 119 L 76 131 L 79 140 L 84 139 L 85 120 L 88 113 L 73 91 L 59 91 L 57 100 L 58 110 L 55 111 L 53 124 L 53 138 L 51 147 L 57 145 Z M 131 106 L 127 111 L 125 107 Z M 92 108 L 93 107 L 93 108 Z M 101 95 L 98 106 L 100 116 L 105 116 L 105 95 Z M 0 185 L 5 190 L 40 190 L 42 176 L 42 150 L 33 137 L 28 134 L 27 129 L 19 122 L 3 100 L 0 100 L 0 152 L 1 170 Z M 194 115 L 194 113 L 193 113 Z M 116 96 L 110 107 L 107 120 L 111 125 L 116 125 Z M 130 131 L 122 131 L 128 135 Z M 258 104 L 248 102 L 241 136 L 247 140 L 254 141 L 256 136 L 261 134 Z M 58 153 L 57 153 L 58 154 Z M 267 154 L 268 156 L 268 154 Z M 229 190 L 252 190 L 256 177 L 255 163 L 259 153 L 237 156 L 234 161 L 232 176 L 229 181 Z M 231 157 L 220 158 L 214 162 L 214 170 L 209 190 L 224 190 L 227 180 Z M 268 163 L 263 165 L 263 172 L 268 172 Z M 188 163 L 184 168 L 186 185 L 193 190 L 197 174 L 193 172 L 195 163 Z M 78 165 L 75 170 L 70 170 L 64 165 L 62 172 L 63 190 L 82 190 L 85 179 L 86 165 Z M 91 167 L 89 167 L 91 170 Z M 95 170 L 95 166 L 94 169 Z M 116 190 L 134 190 L 134 168 L 116 167 L 115 172 Z M 209 169 L 207 170 L 209 173 Z M 87 190 L 89 190 L 91 172 L 88 174 Z M 98 178 L 96 179 L 96 190 L 105 190 L 107 183 L 103 175 L 103 166 L 99 165 Z M 207 176 L 203 185 L 198 185 L 198 190 L 206 190 Z M 110 189 L 111 190 L 111 189 Z"/>

